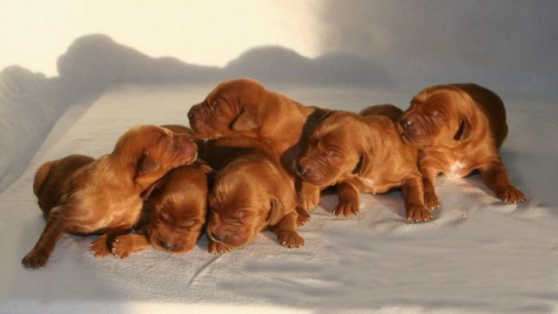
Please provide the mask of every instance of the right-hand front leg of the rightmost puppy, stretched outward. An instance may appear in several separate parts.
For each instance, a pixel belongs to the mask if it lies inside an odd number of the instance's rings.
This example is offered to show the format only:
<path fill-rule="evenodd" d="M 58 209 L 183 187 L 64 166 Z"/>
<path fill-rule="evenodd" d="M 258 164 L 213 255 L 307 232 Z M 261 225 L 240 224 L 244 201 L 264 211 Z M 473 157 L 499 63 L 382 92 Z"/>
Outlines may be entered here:
<path fill-rule="evenodd" d="M 498 160 L 481 167 L 479 171 L 483 182 L 496 193 L 500 200 L 508 203 L 525 200 L 525 194 L 513 186 L 501 161 Z"/>

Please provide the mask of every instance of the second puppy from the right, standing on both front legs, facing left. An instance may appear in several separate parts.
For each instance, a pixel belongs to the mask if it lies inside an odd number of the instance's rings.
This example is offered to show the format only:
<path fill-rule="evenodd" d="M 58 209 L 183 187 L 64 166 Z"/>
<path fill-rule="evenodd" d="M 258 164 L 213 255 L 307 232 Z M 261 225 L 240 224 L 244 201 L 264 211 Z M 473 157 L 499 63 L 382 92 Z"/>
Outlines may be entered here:
<path fill-rule="evenodd" d="M 424 205 L 418 149 L 400 139 L 393 105 L 368 107 L 360 114 L 330 112 L 315 128 L 299 161 L 301 177 L 325 188 L 338 185 L 335 215 L 359 212 L 359 192 L 385 193 L 401 188 L 407 218 L 432 218 Z"/>

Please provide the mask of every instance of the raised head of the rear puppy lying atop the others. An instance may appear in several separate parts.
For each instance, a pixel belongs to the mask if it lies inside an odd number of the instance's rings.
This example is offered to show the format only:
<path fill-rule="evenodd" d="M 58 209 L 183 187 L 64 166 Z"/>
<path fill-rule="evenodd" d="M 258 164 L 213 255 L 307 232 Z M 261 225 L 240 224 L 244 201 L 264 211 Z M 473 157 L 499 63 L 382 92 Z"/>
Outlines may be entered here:
<path fill-rule="evenodd" d="M 255 80 L 225 81 L 190 109 L 190 126 L 197 136 L 205 139 L 251 135 L 260 126 L 264 114 L 260 108 L 268 96 L 269 92 Z"/>

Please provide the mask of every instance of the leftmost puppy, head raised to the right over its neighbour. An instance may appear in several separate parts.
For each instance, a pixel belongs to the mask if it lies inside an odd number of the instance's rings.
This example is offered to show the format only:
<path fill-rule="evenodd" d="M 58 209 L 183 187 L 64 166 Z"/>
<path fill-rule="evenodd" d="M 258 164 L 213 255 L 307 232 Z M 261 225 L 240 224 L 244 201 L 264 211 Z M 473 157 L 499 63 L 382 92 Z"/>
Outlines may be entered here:
<path fill-rule="evenodd" d="M 103 233 L 91 244 L 91 252 L 98 257 L 110 254 L 107 243 L 140 219 L 141 193 L 196 156 L 192 137 L 158 126 L 136 126 L 119 138 L 112 153 L 96 160 L 72 155 L 45 163 L 36 172 L 33 191 L 47 224 L 22 264 L 45 266 L 65 232 Z"/>

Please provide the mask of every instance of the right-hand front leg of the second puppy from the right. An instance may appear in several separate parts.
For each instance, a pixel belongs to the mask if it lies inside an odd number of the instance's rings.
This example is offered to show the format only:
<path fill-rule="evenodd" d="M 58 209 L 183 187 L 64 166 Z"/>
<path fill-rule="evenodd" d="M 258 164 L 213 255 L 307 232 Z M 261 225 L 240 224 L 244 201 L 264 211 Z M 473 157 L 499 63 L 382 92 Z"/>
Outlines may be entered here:
<path fill-rule="evenodd" d="M 401 186 L 407 219 L 426 221 L 432 219 L 432 212 L 424 206 L 424 190 L 421 178 L 407 179 Z"/>

